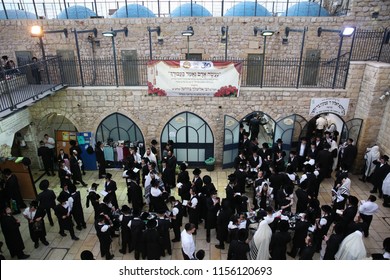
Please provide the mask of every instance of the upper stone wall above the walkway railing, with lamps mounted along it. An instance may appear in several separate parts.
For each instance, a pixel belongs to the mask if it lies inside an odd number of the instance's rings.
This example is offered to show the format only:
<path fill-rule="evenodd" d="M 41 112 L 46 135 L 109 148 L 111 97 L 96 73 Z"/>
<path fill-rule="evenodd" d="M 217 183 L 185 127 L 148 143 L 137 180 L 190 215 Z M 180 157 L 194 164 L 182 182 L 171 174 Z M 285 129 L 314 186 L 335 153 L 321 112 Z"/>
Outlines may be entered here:
<path fill-rule="evenodd" d="M 115 44 L 118 56 L 122 50 L 136 50 L 139 57 L 149 55 L 147 26 L 161 27 L 164 44 L 157 44 L 157 35 L 152 33 L 153 55 L 160 57 L 183 56 L 187 52 L 187 40 L 181 32 L 192 25 L 194 36 L 190 38 L 190 52 L 202 53 L 204 59 L 224 56 L 224 44 L 220 43 L 221 26 L 229 26 L 228 55 L 246 58 L 248 54 L 263 53 L 263 38 L 253 35 L 253 27 L 272 29 L 276 33 L 267 39 L 267 57 L 297 58 L 300 53 L 301 33 L 291 32 L 289 43 L 282 45 L 286 27 L 302 29 L 307 26 L 306 50 L 320 50 L 321 58 L 334 58 L 337 55 L 339 36 L 335 33 L 323 33 L 317 36 L 318 27 L 342 29 L 344 26 L 356 26 L 363 29 L 381 29 L 386 27 L 390 17 L 390 1 L 353 1 L 352 10 L 347 16 L 340 17 L 198 17 L 198 18 L 128 18 L 128 19 L 83 19 L 83 20 L 1 20 L 0 48 L 2 54 L 14 58 L 14 51 L 31 51 L 41 57 L 38 39 L 30 36 L 32 25 L 42 25 L 45 30 L 98 29 L 100 46 L 96 47 L 96 57 L 111 57 L 112 45 L 109 38 L 102 36 L 103 31 L 111 28 L 129 28 L 129 36 L 118 33 Z M 371 13 L 380 7 L 380 16 L 371 18 Z M 88 34 L 79 34 L 81 57 L 92 57 Z M 68 38 L 62 33 L 46 34 L 43 38 L 47 55 L 55 55 L 57 50 L 73 50 L 76 56 L 74 34 Z M 344 39 L 342 53 L 349 51 L 351 39 Z"/>

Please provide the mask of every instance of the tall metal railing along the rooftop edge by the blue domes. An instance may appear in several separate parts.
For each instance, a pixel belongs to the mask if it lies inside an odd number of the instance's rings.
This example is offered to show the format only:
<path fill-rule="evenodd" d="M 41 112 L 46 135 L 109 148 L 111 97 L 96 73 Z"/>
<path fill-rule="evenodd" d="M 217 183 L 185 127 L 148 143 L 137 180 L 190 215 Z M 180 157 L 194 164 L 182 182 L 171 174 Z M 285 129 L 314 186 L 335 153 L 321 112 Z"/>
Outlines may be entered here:
<path fill-rule="evenodd" d="M 16 1 L 16 0 L 2 0 L 2 9 L 5 13 L 5 18 L 46 18 L 55 19 L 60 14 L 65 18 L 89 18 L 90 16 L 95 17 L 110 17 L 115 11 L 123 8 L 125 12 L 122 17 L 132 15 L 132 17 L 169 17 L 175 9 L 180 9 L 183 4 L 190 4 L 189 15 L 199 15 L 199 5 L 204 7 L 207 11 L 206 14 L 212 16 L 224 16 L 226 12 L 233 8 L 235 5 L 244 2 L 244 0 L 205 0 L 205 1 L 193 1 L 193 0 L 143 0 L 143 1 L 109 1 L 109 0 L 63 0 L 63 1 L 43 1 L 43 0 L 32 0 L 32 1 Z M 268 15 L 272 16 L 285 16 L 288 10 L 296 4 L 307 2 L 307 0 L 254 0 L 248 1 L 247 6 L 251 5 L 249 2 L 255 2 L 261 5 L 267 10 Z M 323 3 L 326 1 L 317 0 L 316 3 L 325 9 L 333 9 L 331 7 L 324 7 Z M 138 4 L 151 11 L 151 13 L 145 13 L 142 9 L 137 9 L 134 6 L 128 5 Z M 72 11 L 70 8 L 74 5 L 83 6 L 89 9 L 86 14 L 81 9 Z M 252 4 L 253 5 L 253 4 Z M 305 4 L 303 4 L 305 5 Z M 244 16 L 264 16 L 264 10 L 259 6 L 248 7 L 248 10 Z M 345 14 L 348 7 L 343 7 L 343 11 L 331 11 L 332 14 L 340 15 Z M 240 9 L 241 11 L 242 9 Z M 307 10 L 307 9 L 306 9 Z M 15 13 L 14 11 L 18 11 Z M 237 10 L 238 11 L 238 10 Z M 248 14 L 249 12 L 249 14 Z M 252 14 L 252 13 L 255 14 Z M 303 14 L 304 15 L 304 14 Z M 310 14 L 311 16 L 320 16 L 320 10 L 318 9 L 318 15 Z"/>

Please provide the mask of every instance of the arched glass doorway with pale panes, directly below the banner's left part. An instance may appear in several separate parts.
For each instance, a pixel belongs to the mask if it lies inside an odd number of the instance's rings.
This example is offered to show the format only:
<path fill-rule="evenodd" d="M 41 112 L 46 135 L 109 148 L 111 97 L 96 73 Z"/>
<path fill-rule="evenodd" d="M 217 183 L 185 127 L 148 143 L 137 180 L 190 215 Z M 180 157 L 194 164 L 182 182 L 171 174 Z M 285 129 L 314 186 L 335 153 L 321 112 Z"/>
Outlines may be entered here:
<path fill-rule="evenodd" d="M 214 135 L 209 125 L 193 113 L 180 113 L 164 126 L 160 143 L 168 140 L 174 142 L 178 162 L 202 166 L 206 159 L 214 157 Z"/>

